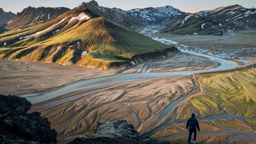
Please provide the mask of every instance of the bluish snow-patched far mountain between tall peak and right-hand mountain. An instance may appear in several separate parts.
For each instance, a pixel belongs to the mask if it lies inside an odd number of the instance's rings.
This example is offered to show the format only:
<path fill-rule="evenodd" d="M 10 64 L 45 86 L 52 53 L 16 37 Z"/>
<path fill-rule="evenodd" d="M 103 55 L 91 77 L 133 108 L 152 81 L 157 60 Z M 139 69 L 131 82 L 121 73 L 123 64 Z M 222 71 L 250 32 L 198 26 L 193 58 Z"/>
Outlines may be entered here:
<path fill-rule="evenodd" d="M 86 3 L 82 3 L 83 6 Z M 147 27 L 148 25 L 159 25 L 165 23 L 165 20 L 183 14 L 180 10 L 171 6 L 159 8 L 144 8 L 133 10 L 121 10 L 119 8 L 104 8 L 98 5 L 96 1 L 91 1 L 88 9 L 95 14 L 111 20 L 111 22 L 130 29 Z"/>

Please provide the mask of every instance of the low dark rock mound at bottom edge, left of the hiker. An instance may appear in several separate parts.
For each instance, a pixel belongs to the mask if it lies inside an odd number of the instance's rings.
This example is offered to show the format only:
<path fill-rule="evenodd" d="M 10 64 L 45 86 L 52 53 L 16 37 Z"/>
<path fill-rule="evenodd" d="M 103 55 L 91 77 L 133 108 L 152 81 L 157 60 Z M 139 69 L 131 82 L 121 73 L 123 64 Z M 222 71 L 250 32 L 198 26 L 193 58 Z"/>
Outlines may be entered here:
<path fill-rule="evenodd" d="M 73 139 L 69 144 L 78 143 L 152 143 L 152 144 L 165 144 L 168 141 L 158 141 L 156 139 L 145 138 L 141 136 L 133 125 L 127 124 L 127 121 L 117 121 L 111 123 L 109 121 L 100 121 L 94 134 L 91 136 L 78 136 Z"/>

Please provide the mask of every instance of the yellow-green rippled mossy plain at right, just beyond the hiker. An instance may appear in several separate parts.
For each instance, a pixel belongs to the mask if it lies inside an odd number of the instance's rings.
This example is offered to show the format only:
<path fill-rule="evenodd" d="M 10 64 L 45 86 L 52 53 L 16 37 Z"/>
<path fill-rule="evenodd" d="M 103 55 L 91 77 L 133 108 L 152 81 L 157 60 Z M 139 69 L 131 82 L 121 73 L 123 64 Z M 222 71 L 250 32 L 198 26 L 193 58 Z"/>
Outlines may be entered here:
<path fill-rule="evenodd" d="M 196 112 L 200 116 L 236 114 L 256 117 L 256 68 L 199 74 L 203 93 L 190 98 L 181 110 L 181 118 Z"/>

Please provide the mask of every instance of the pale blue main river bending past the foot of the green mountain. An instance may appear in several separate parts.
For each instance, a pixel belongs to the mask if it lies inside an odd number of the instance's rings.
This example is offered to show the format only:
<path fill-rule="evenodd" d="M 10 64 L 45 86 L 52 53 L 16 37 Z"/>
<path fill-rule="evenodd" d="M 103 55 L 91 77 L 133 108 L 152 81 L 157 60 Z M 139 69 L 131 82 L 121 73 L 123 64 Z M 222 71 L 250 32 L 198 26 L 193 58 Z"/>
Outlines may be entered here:
<path fill-rule="evenodd" d="M 159 42 L 165 43 L 165 44 L 177 44 L 177 42 L 173 42 L 171 40 L 167 40 L 165 38 L 154 38 L 154 40 L 158 40 Z M 214 57 L 212 55 L 205 55 L 201 53 L 195 53 L 193 51 L 188 51 L 186 49 L 186 46 L 177 44 L 178 48 L 182 53 L 189 53 L 193 55 L 198 55 L 201 57 L 206 57 L 208 59 L 211 59 L 212 61 L 216 61 L 218 63 L 221 63 L 218 68 L 211 68 L 208 70 L 193 70 L 193 71 L 178 71 L 178 72 L 154 72 L 154 73 L 137 73 L 137 74 L 115 74 L 112 76 L 104 76 L 100 78 L 94 78 L 90 80 L 85 81 L 79 81 L 76 83 L 72 83 L 70 85 L 66 85 L 60 89 L 57 89 L 55 91 L 51 91 L 49 93 L 42 93 L 38 95 L 25 95 L 22 96 L 24 98 L 27 98 L 32 104 L 38 103 L 38 102 L 44 102 L 46 100 L 51 100 L 53 98 L 57 98 L 59 96 L 62 96 L 64 94 L 70 93 L 72 91 L 78 91 L 81 89 L 91 89 L 94 87 L 107 87 L 108 85 L 113 85 L 116 83 L 127 83 L 131 81 L 139 81 L 145 78 L 160 78 L 164 76 L 179 76 L 179 75 L 190 75 L 195 73 L 203 73 L 203 72 L 216 72 L 220 70 L 229 70 L 232 68 L 238 67 L 236 63 L 233 63 L 233 61 L 229 61 L 227 59 L 222 59 L 220 57 Z"/>

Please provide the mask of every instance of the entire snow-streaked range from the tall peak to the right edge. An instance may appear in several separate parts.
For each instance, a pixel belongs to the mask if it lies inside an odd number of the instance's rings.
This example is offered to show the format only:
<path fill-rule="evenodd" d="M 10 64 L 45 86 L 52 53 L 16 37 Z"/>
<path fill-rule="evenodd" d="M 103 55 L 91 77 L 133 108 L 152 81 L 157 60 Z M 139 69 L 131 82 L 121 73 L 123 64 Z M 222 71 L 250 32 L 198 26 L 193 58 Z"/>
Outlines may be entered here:
<path fill-rule="evenodd" d="M 230 5 L 209 11 L 185 13 L 171 6 L 122 10 L 100 7 L 96 1 L 88 7 L 119 26 L 129 29 L 156 26 L 161 32 L 180 35 L 223 35 L 227 31 L 255 28 L 255 9 Z"/>

